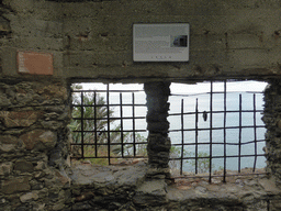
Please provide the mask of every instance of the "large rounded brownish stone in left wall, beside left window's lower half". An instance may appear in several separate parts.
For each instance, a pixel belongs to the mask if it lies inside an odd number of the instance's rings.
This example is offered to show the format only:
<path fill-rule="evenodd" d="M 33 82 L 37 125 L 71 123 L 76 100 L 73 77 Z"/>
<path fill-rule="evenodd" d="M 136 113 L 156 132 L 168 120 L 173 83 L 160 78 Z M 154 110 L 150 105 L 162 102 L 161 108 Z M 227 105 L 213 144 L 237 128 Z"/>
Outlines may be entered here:
<path fill-rule="evenodd" d="M 20 136 L 26 149 L 45 151 L 57 143 L 57 135 L 52 131 L 34 130 Z"/>

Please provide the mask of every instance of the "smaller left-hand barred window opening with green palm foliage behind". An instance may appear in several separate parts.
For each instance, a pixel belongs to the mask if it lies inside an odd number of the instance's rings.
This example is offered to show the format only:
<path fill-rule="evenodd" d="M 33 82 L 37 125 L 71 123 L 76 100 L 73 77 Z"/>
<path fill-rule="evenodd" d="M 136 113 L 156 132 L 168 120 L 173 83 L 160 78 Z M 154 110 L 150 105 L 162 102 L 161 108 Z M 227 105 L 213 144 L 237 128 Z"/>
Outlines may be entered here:
<path fill-rule="evenodd" d="M 146 158 L 143 86 L 72 85 L 71 159 L 111 165 Z"/>

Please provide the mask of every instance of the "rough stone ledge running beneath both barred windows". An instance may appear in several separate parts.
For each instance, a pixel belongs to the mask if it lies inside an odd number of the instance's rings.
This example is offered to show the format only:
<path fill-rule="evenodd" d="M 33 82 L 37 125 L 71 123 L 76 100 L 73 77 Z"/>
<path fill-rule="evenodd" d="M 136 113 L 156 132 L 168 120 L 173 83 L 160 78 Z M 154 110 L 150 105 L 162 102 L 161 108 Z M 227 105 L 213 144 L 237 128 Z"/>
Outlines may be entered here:
<path fill-rule="evenodd" d="M 79 210 L 86 204 L 97 206 L 100 201 L 121 207 L 119 201 L 122 198 L 121 201 L 130 201 L 136 210 L 151 207 L 257 210 L 257 206 L 260 210 L 267 210 L 270 200 L 280 201 L 281 198 L 281 190 L 274 179 L 266 175 L 236 176 L 226 184 L 218 182 L 218 179 L 209 184 L 203 178 L 191 178 L 175 179 L 175 182 L 167 185 L 165 179 L 148 178 L 148 173 L 149 167 L 143 162 L 131 166 L 103 167 L 89 163 L 74 166 L 72 209 Z"/>

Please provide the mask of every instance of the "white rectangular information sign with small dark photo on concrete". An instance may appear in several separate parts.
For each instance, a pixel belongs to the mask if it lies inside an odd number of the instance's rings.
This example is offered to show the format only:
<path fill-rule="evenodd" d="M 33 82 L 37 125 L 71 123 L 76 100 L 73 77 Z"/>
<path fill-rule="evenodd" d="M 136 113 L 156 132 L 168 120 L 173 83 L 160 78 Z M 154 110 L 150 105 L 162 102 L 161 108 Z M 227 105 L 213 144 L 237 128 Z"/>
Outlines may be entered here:
<path fill-rule="evenodd" d="M 133 25 L 134 62 L 188 62 L 189 24 Z"/>

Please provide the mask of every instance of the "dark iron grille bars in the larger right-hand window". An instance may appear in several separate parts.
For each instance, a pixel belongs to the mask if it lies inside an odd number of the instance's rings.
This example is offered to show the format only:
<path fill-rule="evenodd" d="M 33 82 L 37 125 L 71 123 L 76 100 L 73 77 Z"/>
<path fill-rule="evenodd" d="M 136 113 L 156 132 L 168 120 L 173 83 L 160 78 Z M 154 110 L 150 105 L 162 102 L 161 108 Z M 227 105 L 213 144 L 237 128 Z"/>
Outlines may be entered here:
<path fill-rule="evenodd" d="M 227 82 L 224 81 L 223 90 L 214 91 L 211 81 L 210 92 L 171 95 L 181 101 L 180 112 L 170 112 L 169 114 L 170 119 L 178 118 L 178 122 L 180 122 L 176 126 L 175 123 L 171 124 L 170 129 L 172 140 L 170 164 L 172 166 L 176 163 L 179 175 L 193 177 L 205 173 L 201 176 L 209 178 L 210 182 L 213 177 L 223 177 L 225 182 L 226 176 L 238 176 L 243 168 L 251 168 L 251 174 L 263 174 L 256 171 L 258 158 L 260 158 L 259 163 L 265 160 L 262 147 L 266 143 L 266 129 L 261 122 L 263 110 L 257 109 L 257 96 L 259 100 L 262 99 L 262 92 L 227 92 L 226 85 Z M 231 95 L 236 96 L 236 101 L 232 104 L 227 101 Z M 207 102 L 204 100 L 202 102 L 202 96 L 207 99 Z M 220 98 L 216 98 L 217 96 Z M 186 111 L 186 107 L 190 108 L 188 104 L 192 100 L 194 100 L 193 111 L 190 109 Z M 200 103 L 205 103 L 204 110 L 199 109 Z M 217 104 L 220 108 L 214 108 Z M 232 109 L 234 104 L 237 106 Z M 234 121 L 232 118 L 236 120 Z M 217 124 L 218 119 L 221 120 L 220 124 Z M 170 123 L 172 122 L 175 120 L 170 121 Z M 203 125 L 202 122 L 204 122 Z M 178 137 L 175 138 L 175 134 Z M 205 135 L 206 141 L 201 140 L 202 134 Z M 175 140 L 178 142 L 175 143 Z M 216 163 L 220 164 L 220 167 L 214 166 Z M 214 171 L 218 170 L 222 174 L 214 175 Z M 249 173 L 247 171 L 247 174 Z"/>

